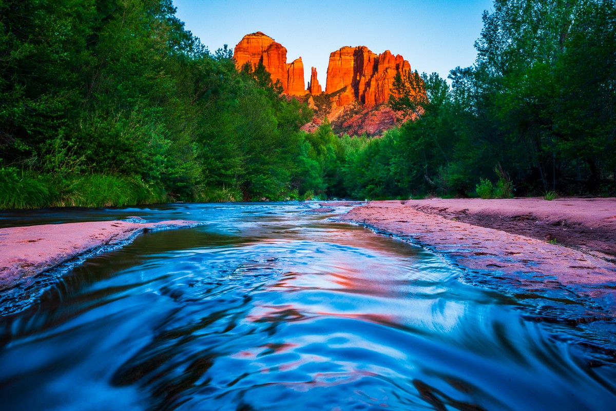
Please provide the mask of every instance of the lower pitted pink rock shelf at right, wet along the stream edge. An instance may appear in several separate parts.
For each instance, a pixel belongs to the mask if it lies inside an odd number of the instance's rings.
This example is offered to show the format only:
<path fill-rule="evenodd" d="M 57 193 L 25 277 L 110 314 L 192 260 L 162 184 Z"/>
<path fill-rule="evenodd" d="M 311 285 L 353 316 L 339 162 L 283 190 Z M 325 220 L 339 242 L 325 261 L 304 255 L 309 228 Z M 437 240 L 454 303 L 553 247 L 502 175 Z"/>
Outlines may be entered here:
<path fill-rule="evenodd" d="M 614 318 L 613 263 L 545 240 L 426 213 L 411 204 L 415 201 L 370 202 L 339 220 L 422 245 L 465 268 L 472 282 L 537 300 L 545 308 L 560 306 L 555 315 L 569 317 L 569 321 Z M 563 313 L 565 305 L 569 308 Z"/>

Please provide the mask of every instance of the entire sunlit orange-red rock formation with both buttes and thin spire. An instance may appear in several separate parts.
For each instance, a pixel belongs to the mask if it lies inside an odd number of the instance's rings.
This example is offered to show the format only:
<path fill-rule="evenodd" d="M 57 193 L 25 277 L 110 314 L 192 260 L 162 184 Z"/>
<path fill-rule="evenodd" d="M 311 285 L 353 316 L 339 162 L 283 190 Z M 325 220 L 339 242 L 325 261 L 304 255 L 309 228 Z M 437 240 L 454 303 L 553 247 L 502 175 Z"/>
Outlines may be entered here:
<path fill-rule="evenodd" d="M 395 75 L 406 74 L 411 66 L 401 55 L 393 55 L 389 50 L 375 54 L 368 47 L 359 46 L 342 47 L 332 52 L 325 95 L 314 67 L 310 70 L 308 87 L 304 89 L 301 57 L 286 63 L 285 47 L 260 31 L 244 36 L 235 46 L 234 57 L 238 68 L 246 62 L 253 67 L 262 62 L 272 75 L 272 81 L 280 80 L 286 95 L 306 100 L 317 113 L 304 127 L 306 130 L 314 129 L 327 118 L 341 133 L 375 135 L 403 120 L 399 113 L 383 103 L 389 100 Z"/>

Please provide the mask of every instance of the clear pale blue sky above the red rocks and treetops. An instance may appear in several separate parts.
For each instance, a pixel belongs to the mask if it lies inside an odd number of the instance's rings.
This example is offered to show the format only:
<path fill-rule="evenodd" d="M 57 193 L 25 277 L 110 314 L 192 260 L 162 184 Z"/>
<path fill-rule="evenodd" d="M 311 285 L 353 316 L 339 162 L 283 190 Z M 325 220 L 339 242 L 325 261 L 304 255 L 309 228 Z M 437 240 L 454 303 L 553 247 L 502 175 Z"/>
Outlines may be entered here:
<path fill-rule="evenodd" d="M 318 71 L 325 89 L 330 53 L 342 46 L 367 46 L 376 54 L 402 54 L 419 73 L 447 78 L 469 66 L 483 10 L 492 0 L 173 0 L 177 17 L 211 51 L 231 49 L 248 33 L 262 31 L 301 56 L 304 78 Z"/>

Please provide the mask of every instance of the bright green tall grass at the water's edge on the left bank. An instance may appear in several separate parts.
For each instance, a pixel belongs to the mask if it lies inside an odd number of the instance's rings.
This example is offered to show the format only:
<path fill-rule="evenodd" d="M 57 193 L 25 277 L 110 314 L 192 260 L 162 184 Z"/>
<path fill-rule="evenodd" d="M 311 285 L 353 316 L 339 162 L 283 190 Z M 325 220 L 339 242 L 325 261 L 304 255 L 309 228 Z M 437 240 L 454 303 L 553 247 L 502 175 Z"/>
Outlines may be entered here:
<path fill-rule="evenodd" d="M 121 207 L 169 202 L 166 191 L 137 177 L 91 174 L 54 177 L 0 169 L 0 209 Z"/>

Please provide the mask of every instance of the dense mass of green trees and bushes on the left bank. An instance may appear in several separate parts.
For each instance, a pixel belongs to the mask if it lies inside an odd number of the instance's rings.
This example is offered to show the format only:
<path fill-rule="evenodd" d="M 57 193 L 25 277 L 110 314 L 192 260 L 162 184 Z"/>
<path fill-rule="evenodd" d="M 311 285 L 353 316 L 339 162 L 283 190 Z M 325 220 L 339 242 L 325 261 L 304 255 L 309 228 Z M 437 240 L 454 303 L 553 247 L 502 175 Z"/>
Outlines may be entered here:
<path fill-rule="evenodd" d="M 209 52 L 171 0 L 0 0 L 0 33 L 0 207 L 306 191 L 310 110 Z"/>

